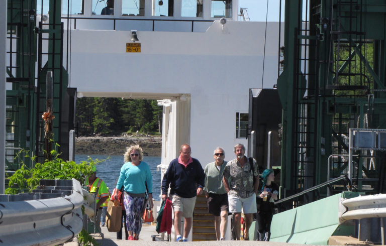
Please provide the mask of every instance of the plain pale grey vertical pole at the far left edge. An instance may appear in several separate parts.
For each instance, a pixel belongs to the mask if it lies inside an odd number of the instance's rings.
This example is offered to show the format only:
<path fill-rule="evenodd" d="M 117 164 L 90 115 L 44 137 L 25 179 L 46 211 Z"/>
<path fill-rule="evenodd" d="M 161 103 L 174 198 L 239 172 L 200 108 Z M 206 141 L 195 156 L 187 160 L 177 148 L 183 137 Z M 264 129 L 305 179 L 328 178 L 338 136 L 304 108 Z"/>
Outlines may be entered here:
<path fill-rule="evenodd" d="M 7 34 L 7 2 L 0 8 L 0 194 L 5 190 L 6 169 L 6 34 Z"/>

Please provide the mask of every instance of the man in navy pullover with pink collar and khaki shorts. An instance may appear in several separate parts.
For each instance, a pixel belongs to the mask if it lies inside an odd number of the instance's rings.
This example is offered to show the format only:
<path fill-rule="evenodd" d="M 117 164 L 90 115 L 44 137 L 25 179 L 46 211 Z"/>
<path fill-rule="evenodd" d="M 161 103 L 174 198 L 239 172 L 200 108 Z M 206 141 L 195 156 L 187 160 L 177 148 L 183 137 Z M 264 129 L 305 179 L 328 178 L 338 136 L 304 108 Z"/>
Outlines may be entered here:
<path fill-rule="evenodd" d="M 190 157 L 190 146 L 184 144 L 179 150 L 179 157 L 172 160 L 162 179 L 162 200 L 170 196 L 174 210 L 174 230 L 176 241 L 187 241 L 192 225 L 196 196 L 203 193 L 205 173 L 199 160 Z M 181 237 L 181 216 L 185 218 L 183 237 Z"/>

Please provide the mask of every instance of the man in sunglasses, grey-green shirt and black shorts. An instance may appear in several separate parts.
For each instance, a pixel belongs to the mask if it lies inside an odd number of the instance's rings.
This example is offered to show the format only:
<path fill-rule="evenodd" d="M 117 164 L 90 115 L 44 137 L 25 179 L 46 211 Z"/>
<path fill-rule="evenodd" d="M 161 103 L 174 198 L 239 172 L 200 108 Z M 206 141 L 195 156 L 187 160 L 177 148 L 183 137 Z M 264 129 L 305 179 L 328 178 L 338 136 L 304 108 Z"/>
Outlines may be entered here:
<path fill-rule="evenodd" d="M 204 192 L 208 201 L 208 211 L 215 216 L 217 240 L 224 240 L 228 221 L 228 195 L 223 183 L 223 172 L 227 165 L 224 161 L 224 149 L 217 147 L 213 157 L 215 161 L 208 163 L 204 170 Z"/>

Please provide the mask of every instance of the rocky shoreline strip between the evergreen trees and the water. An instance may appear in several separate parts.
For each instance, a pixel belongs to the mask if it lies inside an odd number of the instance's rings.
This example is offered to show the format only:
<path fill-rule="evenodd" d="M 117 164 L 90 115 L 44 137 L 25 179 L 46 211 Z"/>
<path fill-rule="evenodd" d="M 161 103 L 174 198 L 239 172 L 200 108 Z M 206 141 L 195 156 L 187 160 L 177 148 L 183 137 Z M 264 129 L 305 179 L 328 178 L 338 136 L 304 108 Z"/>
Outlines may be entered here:
<path fill-rule="evenodd" d="M 126 147 L 139 145 L 145 156 L 161 156 L 161 137 L 78 137 L 75 154 L 123 155 Z"/>

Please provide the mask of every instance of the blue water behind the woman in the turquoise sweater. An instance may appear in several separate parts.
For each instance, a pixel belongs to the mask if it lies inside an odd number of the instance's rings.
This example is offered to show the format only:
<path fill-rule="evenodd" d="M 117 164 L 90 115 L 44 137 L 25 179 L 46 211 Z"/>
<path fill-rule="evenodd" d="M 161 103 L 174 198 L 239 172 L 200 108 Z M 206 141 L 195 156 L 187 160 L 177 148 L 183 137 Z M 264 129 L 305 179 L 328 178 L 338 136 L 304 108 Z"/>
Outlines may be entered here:
<path fill-rule="evenodd" d="M 96 176 L 103 179 L 107 187 L 109 187 L 110 191 L 113 192 L 113 189 L 119 178 L 119 172 L 121 171 L 121 167 L 124 164 L 123 155 L 75 155 L 75 162 L 79 163 L 81 161 L 86 161 L 88 157 L 91 157 L 92 160 L 105 160 L 110 157 L 106 161 L 96 165 Z M 153 198 L 155 200 L 160 200 L 159 195 L 161 191 L 161 173 L 160 171 L 157 172 L 157 165 L 161 163 L 161 157 L 144 156 L 143 161 L 149 165 L 151 174 L 153 175 Z"/>

